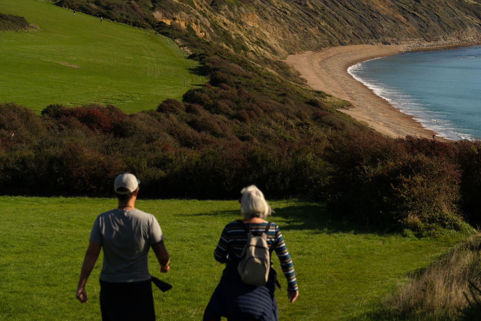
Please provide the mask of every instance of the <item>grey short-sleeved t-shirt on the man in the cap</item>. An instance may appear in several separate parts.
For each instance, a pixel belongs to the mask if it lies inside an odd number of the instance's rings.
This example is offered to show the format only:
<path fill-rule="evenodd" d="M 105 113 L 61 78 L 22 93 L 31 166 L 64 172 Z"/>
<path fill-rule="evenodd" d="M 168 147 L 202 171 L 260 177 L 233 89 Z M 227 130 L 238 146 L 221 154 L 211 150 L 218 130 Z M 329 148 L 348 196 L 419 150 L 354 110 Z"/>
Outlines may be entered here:
<path fill-rule="evenodd" d="M 103 247 L 100 279 L 106 282 L 150 280 L 149 248 L 163 239 L 159 222 L 152 214 L 138 209 L 102 213 L 90 231 L 90 241 Z"/>

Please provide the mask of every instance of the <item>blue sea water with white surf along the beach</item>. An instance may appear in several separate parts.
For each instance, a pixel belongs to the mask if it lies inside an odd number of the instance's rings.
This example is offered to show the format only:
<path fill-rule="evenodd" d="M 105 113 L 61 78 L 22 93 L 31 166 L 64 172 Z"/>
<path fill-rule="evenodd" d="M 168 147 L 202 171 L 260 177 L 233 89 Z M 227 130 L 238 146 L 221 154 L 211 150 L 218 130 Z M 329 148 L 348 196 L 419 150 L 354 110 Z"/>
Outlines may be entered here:
<path fill-rule="evenodd" d="M 348 72 L 439 136 L 481 139 L 481 46 L 399 53 Z"/>

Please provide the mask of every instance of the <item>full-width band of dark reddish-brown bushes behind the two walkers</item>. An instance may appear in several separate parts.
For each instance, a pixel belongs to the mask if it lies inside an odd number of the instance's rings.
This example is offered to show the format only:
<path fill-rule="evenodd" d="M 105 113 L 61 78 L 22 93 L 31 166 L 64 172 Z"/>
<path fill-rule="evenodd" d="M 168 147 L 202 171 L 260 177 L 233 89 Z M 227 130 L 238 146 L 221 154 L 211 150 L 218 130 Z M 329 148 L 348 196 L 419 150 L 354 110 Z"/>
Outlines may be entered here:
<path fill-rule="evenodd" d="M 0 104 L 0 193 L 110 195 L 115 175 L 132 171 L 144 197 L 230 198 L 255 183 L 270 197 L 327 199 L 339 218 L 383 229 L 458 229 L 462 214 L 477 218 L 479 142 L 393 140 L 300 118 L 289 131 L 287 118 L 264 124 L 255 108 L 233 118 L 175 100 L 159 109 L 49 105 L 38 116 Z"/>

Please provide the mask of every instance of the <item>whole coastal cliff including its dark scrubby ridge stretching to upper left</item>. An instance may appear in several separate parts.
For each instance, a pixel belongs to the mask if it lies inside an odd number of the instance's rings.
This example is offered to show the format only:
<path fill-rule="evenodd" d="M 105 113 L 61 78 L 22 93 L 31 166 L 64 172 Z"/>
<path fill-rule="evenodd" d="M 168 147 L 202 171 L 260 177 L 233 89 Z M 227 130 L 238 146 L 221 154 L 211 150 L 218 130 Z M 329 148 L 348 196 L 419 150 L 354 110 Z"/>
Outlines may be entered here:
<path fill-rule="evenodd" d="M 134 26 L 192 29 L 256 58 L 348 44 L 407 50 L 479 43 L 481 0 L 61 0 L 57 5 Z"/>

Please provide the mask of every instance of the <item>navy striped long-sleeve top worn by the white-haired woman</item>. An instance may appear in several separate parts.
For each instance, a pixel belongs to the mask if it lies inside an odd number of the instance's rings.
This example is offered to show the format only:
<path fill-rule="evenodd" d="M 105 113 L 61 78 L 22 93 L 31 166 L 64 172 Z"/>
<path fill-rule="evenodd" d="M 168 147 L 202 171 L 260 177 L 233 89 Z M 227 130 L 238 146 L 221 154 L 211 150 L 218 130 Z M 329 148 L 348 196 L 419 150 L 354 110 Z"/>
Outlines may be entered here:
<path fill-rule="evenodd" d="M 251 232 L 263 232 L 266 229 L 267 222 L 264 223 L 244 223 Z M 230 222 L 222 231 L 219 243 L 214 251 L 214 257 L 220 263 L 225 263 L 230 256 L 241 257 L 242 249 L 247 243 L 247 233 L 238 221 Z M 292 264 L 291 255 L 287 250 L 284 238 L 279 231 L 279 227 L 275 223 L 271 223 L 269 232 L 267 233 L 267 245 L 272 253 L 276 251 L 279 257 L 280 267 L 287 279 L 287 289 L 289 291 L 297 290 L 296 274 Z M 232 258 L 232 257 L 231 257 Z"/>

